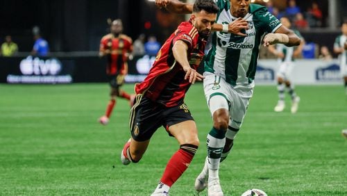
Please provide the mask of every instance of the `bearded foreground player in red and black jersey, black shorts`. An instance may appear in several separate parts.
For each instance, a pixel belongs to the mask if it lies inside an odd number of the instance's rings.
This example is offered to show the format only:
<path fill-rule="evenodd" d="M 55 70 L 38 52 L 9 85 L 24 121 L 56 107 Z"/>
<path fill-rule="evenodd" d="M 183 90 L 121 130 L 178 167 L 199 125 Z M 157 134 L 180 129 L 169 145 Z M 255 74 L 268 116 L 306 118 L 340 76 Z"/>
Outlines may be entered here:
<path fill-rule="evenodd" d="M 196 69 L 203 60 L 218 10 L 213 0 L 196 0 L 189 22 L 181 23 L 171 34 L 146 79 L 135 85 L 137 95 L 130 111 L 131 138 L 121 152 L 122 163 L 137 163 L 160 126 L 180 144 L 152 195 L 168 195 L 169 188 L 185 172 L 198 149 L 196 124 L 184 97 L 192 83 L 203 79 Z"/>

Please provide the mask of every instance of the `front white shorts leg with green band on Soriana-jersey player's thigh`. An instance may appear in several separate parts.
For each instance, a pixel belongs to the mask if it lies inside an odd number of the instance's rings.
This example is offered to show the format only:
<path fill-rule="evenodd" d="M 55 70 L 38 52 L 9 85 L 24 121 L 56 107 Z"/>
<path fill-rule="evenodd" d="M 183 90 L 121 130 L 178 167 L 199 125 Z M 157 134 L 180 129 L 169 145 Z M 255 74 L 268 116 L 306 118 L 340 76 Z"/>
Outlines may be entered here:
<path fill-rule="evenodd" d="M 219 109 L 230 108 L 230 84 L 226 83 L 220 76 L 214 74 L 205 74 L 203 80 L 203 89 L 205 98 L 208 102 L 208 108 L 211 115 Z"/>

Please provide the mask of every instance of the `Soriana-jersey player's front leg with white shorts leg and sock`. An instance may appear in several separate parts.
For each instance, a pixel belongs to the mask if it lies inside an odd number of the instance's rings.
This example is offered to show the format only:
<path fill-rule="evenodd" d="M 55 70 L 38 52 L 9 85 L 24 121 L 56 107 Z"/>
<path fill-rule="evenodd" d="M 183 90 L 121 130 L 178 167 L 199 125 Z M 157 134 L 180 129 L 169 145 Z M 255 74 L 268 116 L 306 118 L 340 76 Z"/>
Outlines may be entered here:
<path fill-rule="evenodd" d="M 209 194 L 223 195 L 219 184 L 219 163 L 226 142 L 226 130 L 229 123 L 228 88 L 230 85 L 214 74 L 205 74 L 203 83 L 205 97 L 212 114 L 213 126 L 207 136 L 208 158 L 205 160 L 203 170 L 196 178 L 194 187 L 198 191 L 205 189 L 205 180 L 208 179 Z"/>

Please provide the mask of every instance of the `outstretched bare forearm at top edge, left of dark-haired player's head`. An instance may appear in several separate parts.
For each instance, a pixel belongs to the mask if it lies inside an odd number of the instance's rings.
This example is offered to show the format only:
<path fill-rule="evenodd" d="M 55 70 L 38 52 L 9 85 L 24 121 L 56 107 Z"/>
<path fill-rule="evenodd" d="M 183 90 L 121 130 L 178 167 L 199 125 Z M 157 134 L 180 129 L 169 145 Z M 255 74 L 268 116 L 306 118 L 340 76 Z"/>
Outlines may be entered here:
<path fill-rule="evenodd" d="M 166 8 L 171 13 L 190 14 L 193 12 L 192 3 L 183 3 L 178 0 L 155 0 L 159 8 Z"/>

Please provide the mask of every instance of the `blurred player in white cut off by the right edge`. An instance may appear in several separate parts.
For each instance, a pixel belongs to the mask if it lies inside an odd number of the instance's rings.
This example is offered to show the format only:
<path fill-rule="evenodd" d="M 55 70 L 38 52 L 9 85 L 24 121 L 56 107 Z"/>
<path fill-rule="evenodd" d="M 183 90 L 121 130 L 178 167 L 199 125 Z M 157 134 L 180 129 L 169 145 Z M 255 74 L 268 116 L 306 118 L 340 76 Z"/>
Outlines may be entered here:
<path fill-rule="evenodd" d="M 344 78 L 345 91 L 347 95 L 347 22 L 341 25 L 342 34 L 337 36 L 334 43 L 334 52 L 339 54 L 339 65 L 341 76 Z"/>

